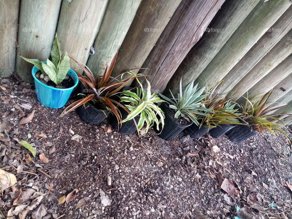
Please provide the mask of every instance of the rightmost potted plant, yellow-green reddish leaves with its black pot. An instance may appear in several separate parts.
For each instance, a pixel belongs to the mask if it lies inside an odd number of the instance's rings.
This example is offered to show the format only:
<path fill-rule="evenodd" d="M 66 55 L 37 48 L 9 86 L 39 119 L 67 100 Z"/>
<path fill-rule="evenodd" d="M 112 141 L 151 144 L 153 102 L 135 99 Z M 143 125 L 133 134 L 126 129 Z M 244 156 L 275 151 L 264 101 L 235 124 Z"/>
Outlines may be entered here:
<path fill-rule="evenodd" d="M 287 136 L 287 133 L 281 128 L 283 124 L 277 124 L 272 121 L 280 121 L 276 118 L 280 114 L 273 114 L 272 112 L 280 109 L 283 106 L 272 106 L 273 103 L 267 103 L 272 90 L 265 93 L 262 97 L 258 95 L 253 96 L 248 99 L 248 97 L 243 97 L 246 99 L 244 104 L 241 104 L 242 120 L 246 124 L 240 124 L 226 133 L 228 138 L 235 143 L 241 143 L 249 137 L 263 131 L 267 130 L 272 133 L 279 131 L 280 133 Z M 281 114 L 282 115 L 282 114 Z"/>

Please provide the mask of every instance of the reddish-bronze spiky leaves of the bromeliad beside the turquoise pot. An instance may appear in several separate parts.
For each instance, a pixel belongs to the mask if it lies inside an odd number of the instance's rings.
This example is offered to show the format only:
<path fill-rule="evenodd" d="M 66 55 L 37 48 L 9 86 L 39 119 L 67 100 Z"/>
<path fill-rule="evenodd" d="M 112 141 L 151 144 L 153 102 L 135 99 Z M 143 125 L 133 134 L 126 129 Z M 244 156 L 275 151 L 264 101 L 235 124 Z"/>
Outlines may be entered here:
<path fill-rule="evenodd" d="M 65 114 L 69 113 L 70 111 L 76 109 L 79 106 L 84 105 L 85 103 L 93 104 L 97 109 L 107 109 L 112 112 L 117 120 L 121 121 L 121 113 L 118 109 L 118 106 L 123 107 L 116 99 L 118 98 L 119 91 L 127 85 L 131 80 L 138 77 L 144 77 L 144 75 L 139 74 L 135 75 L 132 70 L 139 69 L 135 68 L 122 74 L 118 75 L 117 77 L 111 77 L 111 73 L 116 62 L 116 57 L 118 55 L 117 50 L 109 69 L 106 67 L 104 74 L 94 78 L 92 71 L 83 63 L 76 61 L 74 58 L 70 57 L 73 61 L 75 61 L 84 71 L 85 75 L 81 75 L 80 73 L 76 72 L 78 75 L 79 80 L 82 82 L 82 85 L 85 87 L 85 90 L 89 91 L 85 95 L 84 98 L 75 101 L 74 103 L 70 104 L 64 111 L 61 113 L 60 116 L 64 116 Z M 132 75 L 129 78 L 123 79 L 124 74 Z"/>

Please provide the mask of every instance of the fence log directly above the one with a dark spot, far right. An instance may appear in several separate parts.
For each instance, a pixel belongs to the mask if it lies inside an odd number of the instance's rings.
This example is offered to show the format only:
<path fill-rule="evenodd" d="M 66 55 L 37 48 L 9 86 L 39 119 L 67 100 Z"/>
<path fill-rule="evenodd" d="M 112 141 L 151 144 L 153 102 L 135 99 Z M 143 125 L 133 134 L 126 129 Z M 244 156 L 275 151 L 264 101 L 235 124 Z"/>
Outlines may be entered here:
<path fill-rule="evenodd" d="M 261 96 L 268 92 L 271 88 L 275 87 L 280 83 L 284 78 L 286 78 L 292 72 L 292 54 L 290 54 L 284 61 L 276 66 L 272 71 L 270 71 L 265 77 L 263 77 L 259 82 L 257 82 L 251 89 L 248 91 L 248 96 L 252 97 L 255 95 Z M 290 87 L 291 82 L 290 82 Z M 278 92 L 273 90 L 273 92 Z M 283 91 L 280 90 L 283 93 Z M 246 96 L 246 94 L 244 95 Z M 269 102 L 271 99 L 269 98 Z"/>

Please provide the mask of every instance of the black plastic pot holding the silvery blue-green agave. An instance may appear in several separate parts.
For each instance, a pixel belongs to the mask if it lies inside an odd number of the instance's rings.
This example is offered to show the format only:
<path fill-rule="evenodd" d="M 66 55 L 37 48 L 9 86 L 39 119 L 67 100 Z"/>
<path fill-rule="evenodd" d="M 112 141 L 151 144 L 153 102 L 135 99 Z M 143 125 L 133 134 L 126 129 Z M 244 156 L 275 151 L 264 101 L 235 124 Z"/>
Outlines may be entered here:
<path fill-rule="evenodd" d="M 190 125 L 192 125 L 193 123 L 183 126 L 180 125 L 178 123 L 176 123 L 175 121 L 172 120 L 171 116 L 169 116 L 167 110 L 166 110 L 166 106 L 165 104 L 162 105 L 162 110 L 164 112 L 165 115 L 165 119 L 164 119 L 164 127 L 163 130 L 160 134 L 158 134 L 159 137 L 165 139 L 165 140 L 172 140 L 174 139 L 176 136 L 179 135 L 179 133 L 181 133 L 186 127 L 189 127 Z M 161 125 L 160 125 L 161 127 Z M 160 131 L 155 130 L 156 133 L 159 133 Z"/>

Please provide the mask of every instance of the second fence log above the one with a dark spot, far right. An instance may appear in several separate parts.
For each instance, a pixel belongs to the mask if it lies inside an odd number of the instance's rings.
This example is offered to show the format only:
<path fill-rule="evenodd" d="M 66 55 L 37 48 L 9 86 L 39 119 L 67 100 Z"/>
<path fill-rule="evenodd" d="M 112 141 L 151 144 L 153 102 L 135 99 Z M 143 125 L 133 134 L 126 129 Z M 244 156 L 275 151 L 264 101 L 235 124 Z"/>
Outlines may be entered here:
<path fill-rule="evenodd" d="M 265 57 L 263 57 L 258 64 L 252 68 L 228 93 L 228 97 L 242 96 L 253 85 L 259 82 L 264 76 L 272 71 L 278 64 L 280 64 L 286 57 L 292 53 L 292 30 L 290 30 L 280 41 L 277 43 Z M 280 66 L 281 68 L 282 66 Z M 287 73 L 287 72 L 286 72 Z M 282 74 L 282 72 L 280 73 Z M 288 73 L 286 74 L 288 75 Z M 276 75 L 276 77 L 279 77 Z M 265 83 L 265 81 L 261 81 Z M 265 85 L 272 89 L 273 85 Z M 236 99 L 236 98 L 235 98 Z"/>

